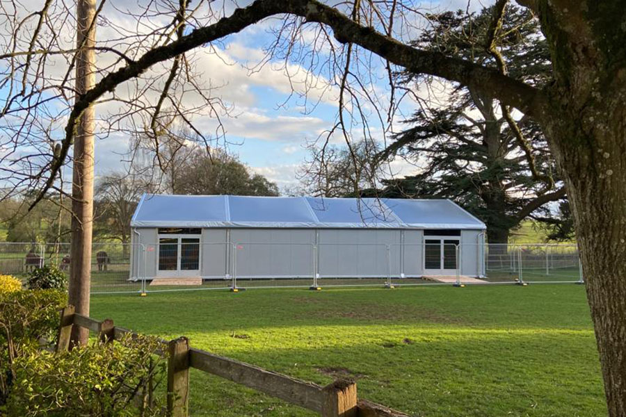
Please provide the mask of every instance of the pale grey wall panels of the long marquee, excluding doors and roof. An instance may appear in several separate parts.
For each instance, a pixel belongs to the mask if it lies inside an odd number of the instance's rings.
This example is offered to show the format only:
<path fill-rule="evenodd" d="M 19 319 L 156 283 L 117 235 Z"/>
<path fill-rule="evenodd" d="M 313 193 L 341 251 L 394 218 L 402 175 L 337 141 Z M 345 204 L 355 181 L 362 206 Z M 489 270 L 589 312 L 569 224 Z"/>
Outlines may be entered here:
<path fill-rule="evenodd" d="M 156 228 L 138 228 L 131 252 L 131 277 L 141 278 L 145 245 L 145 276 L 157 274 Z M 230 234 L 230 236 L 229 236 Z M 316 238 L 317 234 L 317 238 Z M 479 230 L 461 231 L 461 274 L 476 277 L 483 268 Z M 403 237 L 401 237 L 403 235 Z M 225 244 L 230 238 L 230 245 Z M 388 274 L 387 245 L 390 246 L 392 277 L 401 272 L 406 277 L 421 277 L 424 262 L 424 233 L 415 229 L 203 229 L 201 239 L 201 275 L 225 278 L 232 272 L 230 263 L 236 249 L 237 277 L 306 277 L 313 276 L 317 256 L 320 277 L 381 277 Z M 318 252 L 313 245 L 317 242 Z M 401 245 L 403 243 L 403 245 Z"/>

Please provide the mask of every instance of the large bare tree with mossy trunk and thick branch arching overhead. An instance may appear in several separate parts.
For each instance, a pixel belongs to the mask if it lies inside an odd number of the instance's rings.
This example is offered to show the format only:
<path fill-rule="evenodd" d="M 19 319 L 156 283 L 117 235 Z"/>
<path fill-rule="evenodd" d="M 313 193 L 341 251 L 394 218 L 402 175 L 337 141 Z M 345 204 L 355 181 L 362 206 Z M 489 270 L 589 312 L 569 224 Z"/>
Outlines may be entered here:
<path fill-rule="evenodd" d="M 495 33 L 506 3 L 497 0 Z M 16 2 L 1 3 L 0 13 L 7 22 L 5 52 L 0 55 L 5 91 L 0 110 L 4 186 L 9 192 L 39 190 L 34 203 L 42 199 L 70 161 L 81 119 L 93 106 L 107 108 L 103 136 L 141 129 L 152 134 L 157 149 L 161 130 L 168 129 L 163 121 L 172 115 L 190 120 L 190 129 L 194 111 L 220 117 L 220 101 L 211 94 L 210 83 L 199 83 L 198 68 L 191 65 L 193 56 L 217 53 L 216 45 L 227 35 L 262 21 L 275 29 L 265 62 L 282 60 L 282 71 L 290 75 L 294 64 L 307 69 L 310 89 L 302 92 L 307 104 L 314 106 L 313 86 L 323 80 L 336 92 L 337 122 L 326 136 L 344 138 L 346 146 L 353 136 L 369 138 L 376 133 L 384 140 L 400 99 L 415 95 L 395 88 L 394 70 L 466 85 L 495 97 L 508 111 L 533 118 L 545 132 L 572 204 L 609 415 L 624 416 L 625 8 L 618 0 L 517 3 L 536 14 L 549 44 L 553 79 L 543 87 L 516 80 L 506 68 L 487 67 L 471 57 L 411 46 L 408 40 L 423 22 L 422 10 L 412 1 L 257 0 L 235 10 L 228 2 L 200 1 L 193 8 L 184 0 L 148 2 L 138 10 L 102 1 L 95 15 L 102 22 L 99 35 L 107 32 L 106 37 L 93 48 L 81 45 L 79 49 L 68 45 L 75 15 L 62 0 L 47 0 L 35 13 L 24 13 L 28 9 Z M 130 19 L 123 25 L 106 19 L 116 6 L 124 8 Z M 97 53 L 98 65 L 95 85 L 81 92 L 74 88 L 71 74 L 86 48 Z M 376 71 L 374 63 L 387 71 Z M 380 79 L 389 84 L 384 92 L 380 92 Z M 191 87 L 203 98 L 201 106 L 184 100 Z M 372 122 L 383 127 L 377 131 Z M 218 128 L 215 135 L 204 138 L 215 140 L 222 133 Z M 53 154 L 50 142 L 57 138 L 60 146 Z"/>

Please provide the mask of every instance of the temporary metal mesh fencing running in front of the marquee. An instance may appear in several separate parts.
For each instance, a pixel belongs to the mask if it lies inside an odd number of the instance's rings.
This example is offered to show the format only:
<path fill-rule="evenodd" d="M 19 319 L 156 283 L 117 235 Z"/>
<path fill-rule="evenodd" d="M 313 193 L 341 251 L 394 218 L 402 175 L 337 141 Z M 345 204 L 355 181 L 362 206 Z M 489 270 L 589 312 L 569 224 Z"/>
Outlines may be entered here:
<path fill-rule="evenodd" d="M 92 293 L 584 281 L 576 245 L 182 242 L 175 254 L 167 245 L 94 243 Z M 0 274 L 24 282 L 42 265 L 69 276 L 70 261 L 69 243 L 0 243 Z"/>

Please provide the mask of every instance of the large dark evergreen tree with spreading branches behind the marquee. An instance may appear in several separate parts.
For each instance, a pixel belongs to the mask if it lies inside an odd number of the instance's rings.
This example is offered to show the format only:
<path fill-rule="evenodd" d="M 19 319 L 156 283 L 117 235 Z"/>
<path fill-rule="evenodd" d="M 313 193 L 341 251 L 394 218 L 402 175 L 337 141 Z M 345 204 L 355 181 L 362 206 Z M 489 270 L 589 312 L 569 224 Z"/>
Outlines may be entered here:
<path fill-rule="evenodd" d="M 510 76 L 543 85 L 550 63 L 538 22 L 527 9 L 508 8 L 495 36 L 493 8 L 479 15 L 429 15 L 431 27 L 415 46 L 511 68 Z M 408 86 L 438 82 L 410 72 L 402 76 Z M 422 167 L 419 174 L 386 181 L 385 195 L 453 199 L 487 224 L 490 243 L 507 243 L 511 229 L 525 218 L 556 221 L 547 204 L 563 199 L 565 188 L 536 122 L 515 120 L 508 107 L 483 91 L 453 88 L 444 106 L 428 101 L 407 121 L 410 129 L 385 149 L 384 156 L 401 154 Z"/>

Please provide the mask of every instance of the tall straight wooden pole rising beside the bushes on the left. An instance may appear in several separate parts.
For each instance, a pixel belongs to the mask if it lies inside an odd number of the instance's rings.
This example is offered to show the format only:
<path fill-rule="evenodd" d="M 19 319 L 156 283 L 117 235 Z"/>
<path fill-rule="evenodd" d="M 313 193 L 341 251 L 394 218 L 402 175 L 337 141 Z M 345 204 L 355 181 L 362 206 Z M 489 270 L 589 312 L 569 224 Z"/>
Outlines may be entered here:
<path fill-rule="evenodd" d="M 76 90 L 83 94 L 95 85 L 95 0 L 77 1 L 77 45 L 82 47 L 76 61 Z M 72 177 L 72 247 L 70 304 L 76 312 L 89 315 L 91 279 L 91 238 L 93 231 L 93 164 L 95 116 L 93 106 L 81 115 L 74 139 Z M 74 326 L 72 343 L 87 343 L 88 329 Z"/>

